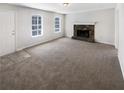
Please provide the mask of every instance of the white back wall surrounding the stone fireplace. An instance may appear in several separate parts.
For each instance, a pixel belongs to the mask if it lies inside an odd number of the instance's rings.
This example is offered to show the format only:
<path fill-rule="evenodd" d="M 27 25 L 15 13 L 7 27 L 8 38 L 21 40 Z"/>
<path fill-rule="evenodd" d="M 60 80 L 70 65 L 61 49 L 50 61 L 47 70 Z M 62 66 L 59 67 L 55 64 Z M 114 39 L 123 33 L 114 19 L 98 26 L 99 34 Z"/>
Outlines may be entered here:
<path fill-rule="evenodd" d="M 96 42 L 114 45 L 115 25 L 114 9 L 89 11 L 66 15 L 66 36 L 73 36 L 73 25 L 75 23 L 94 23 Z"/>

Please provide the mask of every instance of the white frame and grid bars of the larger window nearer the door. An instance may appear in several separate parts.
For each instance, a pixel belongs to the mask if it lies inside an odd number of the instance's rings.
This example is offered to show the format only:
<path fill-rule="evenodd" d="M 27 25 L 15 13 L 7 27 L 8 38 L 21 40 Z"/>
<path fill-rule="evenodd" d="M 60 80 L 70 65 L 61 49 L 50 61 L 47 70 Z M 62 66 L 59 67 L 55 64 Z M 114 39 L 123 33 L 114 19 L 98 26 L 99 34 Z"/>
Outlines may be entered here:
<path fill-rule="evenodd" d="M 33 24 L 33 17 L 37 17 L 37 24 Z M 41 23 L 39 24 L 38 22 L 39 22 L 39 17 L 41 17 Z M 41 16 L 41 15 L 32 15 L 32 17 L 31 17 L 31 25 L 32 25 L 32 29 L 31 29 L 31 36 L 32 37 L 39 37 L 39 36 L 43 36 L 43 16 Z M 39 27 L 39 25 L 41 25 L 41 28 L 39 29 L 38 27 Z M 37 35 L 34 35 L 33 36 L 33 31 L 35 31 L 35 30 L 33 30 L 33 26 L 36 26 L 37 28 L 36 28 L 36 32 L 37 32 Z M 38 30 L 41 30 L 41 34 L 38 34 Z"/>

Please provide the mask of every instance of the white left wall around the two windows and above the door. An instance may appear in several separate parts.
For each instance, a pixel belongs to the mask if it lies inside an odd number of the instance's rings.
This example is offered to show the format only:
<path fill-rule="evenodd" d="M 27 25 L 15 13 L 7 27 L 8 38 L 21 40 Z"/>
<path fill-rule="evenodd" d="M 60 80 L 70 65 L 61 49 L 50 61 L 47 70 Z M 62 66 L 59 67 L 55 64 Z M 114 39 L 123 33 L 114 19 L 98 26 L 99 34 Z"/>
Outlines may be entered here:
<path fill-rule="evenodd" d="M 0 12 L 2 11 L 14 11 L 15 13 L 16 50 L 64 36 L 64 15 L 62 14 L 9 4 L 0 4 Z M 43 36 L 32 37 L 32 15 L 37 14 L 43 17 Z M 62 28 L 60 33 L 54 32 L 55 16 L 61 17 Z"/>

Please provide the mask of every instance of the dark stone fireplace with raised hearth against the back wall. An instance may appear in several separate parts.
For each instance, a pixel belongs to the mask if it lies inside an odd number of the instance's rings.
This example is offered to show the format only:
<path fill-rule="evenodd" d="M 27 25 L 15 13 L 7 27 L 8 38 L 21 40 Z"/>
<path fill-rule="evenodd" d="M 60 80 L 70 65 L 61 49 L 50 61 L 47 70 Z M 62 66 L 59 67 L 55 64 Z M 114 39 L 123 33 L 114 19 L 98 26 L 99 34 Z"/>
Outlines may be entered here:
<path fill-rule="evenodd" d="M 94 25 L 74 25 L 73 39 L 94 42 Z"/>

